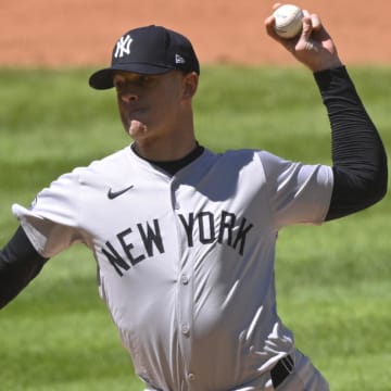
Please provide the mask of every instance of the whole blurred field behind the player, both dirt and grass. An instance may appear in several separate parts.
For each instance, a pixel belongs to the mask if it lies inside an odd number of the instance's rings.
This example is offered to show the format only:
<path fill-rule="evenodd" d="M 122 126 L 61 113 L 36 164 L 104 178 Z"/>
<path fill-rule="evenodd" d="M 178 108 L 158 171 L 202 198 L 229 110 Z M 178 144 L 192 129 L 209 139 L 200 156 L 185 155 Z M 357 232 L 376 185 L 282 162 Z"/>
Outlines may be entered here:
<path fill-rule="evenodd" d="M 27 206 L 59 175 L 129 143 L 115 92 L 87 80 L 109 64 L 116 39 L 140 25 L 164 25 L 193 42 L 200 143 L 330 163 L 312 75 L 265 34 L 273 3 L 0 0 L 0 245 L 17 227 L 13 203 Z M 390 156 L 390 1 L 295 3 L 321 16 Z M 390 214 L 389 192 L 349 218 L 279 234 L 279 315 L 332 391 L 391 390 Z M 0 311 L 0 357 L 1 391 L 142 389 L 83 245 L 50 260 Z"/>

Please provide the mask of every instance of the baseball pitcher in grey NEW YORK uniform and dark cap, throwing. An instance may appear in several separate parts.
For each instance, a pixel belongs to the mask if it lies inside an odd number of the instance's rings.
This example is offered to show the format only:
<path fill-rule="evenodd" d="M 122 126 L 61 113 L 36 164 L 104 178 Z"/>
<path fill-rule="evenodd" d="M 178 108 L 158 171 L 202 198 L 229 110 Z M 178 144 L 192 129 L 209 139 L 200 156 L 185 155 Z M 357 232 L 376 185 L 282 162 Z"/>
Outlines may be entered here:
<path fill-rule="evenodd" d="M 161 26 L 125 33 L 91 87 L 116 90 L 130 146 L 60 176 L 0 254 L 4 306 L 70 245 L 87 245 L 99 292 L 148 390 L 328 390 L 276 311 L 276 237 L 378 202 L 387 157 L 378 131 L 315 14 L 282 40 L 314 74 L 331 124 L 332 166 L 263 150 L 216 154 L 197 142 L 200 66 Z M 213 129 L 211 129 L 213 131 Z M 310 140 L 311 142 L 311 140 Z"/>

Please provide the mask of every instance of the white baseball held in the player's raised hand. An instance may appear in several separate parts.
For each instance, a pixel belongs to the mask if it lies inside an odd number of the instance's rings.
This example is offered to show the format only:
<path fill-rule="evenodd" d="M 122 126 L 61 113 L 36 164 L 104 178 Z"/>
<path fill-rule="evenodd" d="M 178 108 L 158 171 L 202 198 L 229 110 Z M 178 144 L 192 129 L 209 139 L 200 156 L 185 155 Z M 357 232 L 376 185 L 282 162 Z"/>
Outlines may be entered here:
<path fill-rule="evenodd" d="M 275 30 L 282 38 L 293 38 L 302 29 L 303 11 L 293 4 L 279 7 L 273 13 L 275 17 Z"/>

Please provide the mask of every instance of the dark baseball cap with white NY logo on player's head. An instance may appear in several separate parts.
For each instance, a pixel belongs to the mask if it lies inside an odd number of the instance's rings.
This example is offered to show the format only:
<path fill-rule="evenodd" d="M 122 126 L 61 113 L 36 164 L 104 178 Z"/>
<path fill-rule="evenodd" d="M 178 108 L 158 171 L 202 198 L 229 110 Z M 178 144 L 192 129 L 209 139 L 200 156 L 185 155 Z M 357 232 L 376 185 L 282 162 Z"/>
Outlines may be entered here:
<path fill-rule="evenodd" d="M 114 87 L 116 71 L 157 75 L 173 70 L 200 74 L 200 64 L 189 39 L 162 26 L 138 27 L 117 40 L 111 66 L 93 73 L 89 85 L 96 89 Z"/>

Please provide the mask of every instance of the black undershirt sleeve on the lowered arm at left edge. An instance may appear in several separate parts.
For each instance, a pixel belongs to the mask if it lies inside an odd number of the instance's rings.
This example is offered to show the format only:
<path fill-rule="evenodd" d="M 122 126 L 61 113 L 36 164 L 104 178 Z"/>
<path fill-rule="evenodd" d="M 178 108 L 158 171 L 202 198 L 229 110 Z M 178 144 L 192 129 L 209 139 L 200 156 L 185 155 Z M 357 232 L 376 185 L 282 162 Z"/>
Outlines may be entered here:
<path fill-rule="evenodd" d="M 42 257 L 20 226 L 0 251 L 0 308 L 14 299 L 41 270 Z"/>

